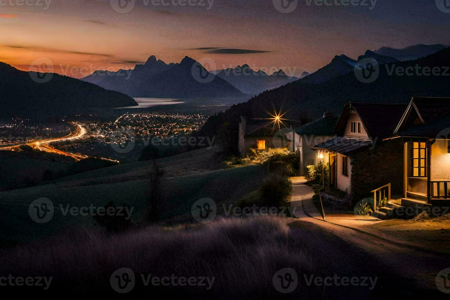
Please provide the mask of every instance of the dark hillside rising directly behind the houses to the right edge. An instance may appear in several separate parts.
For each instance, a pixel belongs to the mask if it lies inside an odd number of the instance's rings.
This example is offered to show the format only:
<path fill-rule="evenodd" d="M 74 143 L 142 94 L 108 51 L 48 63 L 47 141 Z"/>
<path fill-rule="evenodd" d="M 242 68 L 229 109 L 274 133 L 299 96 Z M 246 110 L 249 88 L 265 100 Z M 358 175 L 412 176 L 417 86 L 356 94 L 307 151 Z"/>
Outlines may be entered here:
<path fill-rule="evenodd" d="M 345 66 L 342 59 L 335 58 Z M 416 67 L 417 66 L 417 67 Z M 346 75 L 320 84 L 302 83 L 303 79 L 288 83 L 278 89 L 267 91 L 246 103 L 234 105 L 226 112 L 211 116 L 203 126 L 200 135 L 216 135 L 216 139 L 230 151 L 237 149 L 237 130 L 239 117 L 269 117 L 268 112 L 286 112 L 284 119 L 312 121 L 319 118 L 325 109 L 339 115 L 348 102 L 365 103 L 408 103 L 413 96 L 449 96 L 450 48 L 441 50 L 426 58 L 410 62 L 390 63 L 379 66 L 378 79 L 372 83 L 359 81 L 352 71 Z M 438 67 L 447 76 L 398 75 L 399 67 L 410 69 Z M 345 68 L 345 67 L 343 67 Z M 391 73 L 391 74 L 390 74 Z M 401 73 L 400 73 L 401 74 Z M 270 121 L 268 121 L 270 122 Z M 287 125 L 298 127 L 298 122 L 284 121 Z"/>

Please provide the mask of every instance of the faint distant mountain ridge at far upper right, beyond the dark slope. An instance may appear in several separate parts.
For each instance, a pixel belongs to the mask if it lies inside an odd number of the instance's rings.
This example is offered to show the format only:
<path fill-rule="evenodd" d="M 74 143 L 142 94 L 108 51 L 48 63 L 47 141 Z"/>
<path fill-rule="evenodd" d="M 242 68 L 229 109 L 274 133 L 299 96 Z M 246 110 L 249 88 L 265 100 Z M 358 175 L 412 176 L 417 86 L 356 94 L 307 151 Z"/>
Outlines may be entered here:
<path fill-rule="evenodd" d="M 437 45 L 412 45 L 402 49 L 394 49 L 390 47 L 382 47 L 374 52 L 376 54 L 381 54 L 389 57 L 396 58 L 400 61 L 405 60 L 414 60 L 418 58 L 426 57 L 430 54 L 434 54 L 442 49 L 445 49 L 445 45 L 437 44 Z"/>

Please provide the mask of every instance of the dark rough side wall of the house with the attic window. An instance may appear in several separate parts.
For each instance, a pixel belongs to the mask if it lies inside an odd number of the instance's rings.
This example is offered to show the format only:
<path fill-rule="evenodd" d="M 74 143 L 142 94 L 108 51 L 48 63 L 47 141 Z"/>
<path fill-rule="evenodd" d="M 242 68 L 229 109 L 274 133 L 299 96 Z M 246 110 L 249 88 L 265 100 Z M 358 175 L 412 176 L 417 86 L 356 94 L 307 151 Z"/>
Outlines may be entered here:
<path fill-rule="evenodd" d="M 392 184 L 392 195 L 403 193 L 403 141 L 401 138 L 384 141 L 374 149 L 364 149 L 350 155 L 351 204 L 354 206 L 370 192 L 385 184 Z"/>

